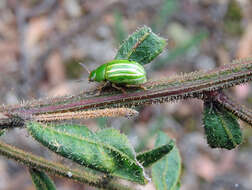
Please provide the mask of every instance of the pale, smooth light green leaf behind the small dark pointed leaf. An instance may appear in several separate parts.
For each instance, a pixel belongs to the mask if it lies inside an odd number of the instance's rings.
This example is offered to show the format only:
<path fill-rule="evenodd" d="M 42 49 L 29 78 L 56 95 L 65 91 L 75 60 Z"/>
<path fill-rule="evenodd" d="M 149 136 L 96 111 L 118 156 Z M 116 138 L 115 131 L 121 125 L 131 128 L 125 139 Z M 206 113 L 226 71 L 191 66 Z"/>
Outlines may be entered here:
<path fill-rule="evenodd" d="M 156 140 L 156 147 L 170 141 L 171 139 L 160 131 Z M 156 190 L 177 190 L 179 188 L 181 158 L 176 146 L 163 159 L 153 164 L 151 173 Z"/>

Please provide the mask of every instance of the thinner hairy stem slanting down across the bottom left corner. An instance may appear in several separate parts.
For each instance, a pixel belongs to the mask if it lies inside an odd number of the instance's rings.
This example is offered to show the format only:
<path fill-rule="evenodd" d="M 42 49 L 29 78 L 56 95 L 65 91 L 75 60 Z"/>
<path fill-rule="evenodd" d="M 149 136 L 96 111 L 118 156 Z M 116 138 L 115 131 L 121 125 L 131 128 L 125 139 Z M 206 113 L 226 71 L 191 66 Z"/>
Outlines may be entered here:
<path fill-rule="evenodd" d="M 21 149 L 3 142 L 0 142 L 0 154 L 29 168 L 36 168 L 37 170 L 44 171 L 51 175 L 66 177 L 98 188 L 109 190 L 132 190 L 129 187 L 116 183 L 114 180 L 110 180 L 106 175 L 101 176 L 83 170 L 70 169 L 59 163 L 48 161 L 42 157 L 24 152 Z"/>

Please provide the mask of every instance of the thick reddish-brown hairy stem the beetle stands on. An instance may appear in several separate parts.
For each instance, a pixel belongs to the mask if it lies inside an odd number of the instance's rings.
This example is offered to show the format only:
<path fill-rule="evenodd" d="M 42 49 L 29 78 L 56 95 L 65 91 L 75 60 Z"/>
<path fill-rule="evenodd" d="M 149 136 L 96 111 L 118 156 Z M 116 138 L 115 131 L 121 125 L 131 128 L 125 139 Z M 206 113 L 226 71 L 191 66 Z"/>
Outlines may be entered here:
<path fill-rule="evenodd" d="M 206 93 L 230 88 L 251 80 L 252 58 L 237 60 L 208 72 L 193 72 L 148 82 L 144 85 L 147 90 L 128 88 L 127 93 L 122 94 L 114 89 L 109 89 L 100 95 L 97 95 L 97 90 L 93 90 L 76 96 L 36 100 L 16 106 L 2 106 L 0 113 L 8 116 L 8 119 L 0 117 L 0 128 L 16 127 L 18 124 L 22 126 L 23 120 L 32 120 L 42 114 L 113 107 L 134 108 L 143 104 L 163 103 L 186 98 L 204 99 Z M 240 106 L 236 112 L 238 117 L 242 115 L 238 112 L 244 112 L 243 107 Z"/>

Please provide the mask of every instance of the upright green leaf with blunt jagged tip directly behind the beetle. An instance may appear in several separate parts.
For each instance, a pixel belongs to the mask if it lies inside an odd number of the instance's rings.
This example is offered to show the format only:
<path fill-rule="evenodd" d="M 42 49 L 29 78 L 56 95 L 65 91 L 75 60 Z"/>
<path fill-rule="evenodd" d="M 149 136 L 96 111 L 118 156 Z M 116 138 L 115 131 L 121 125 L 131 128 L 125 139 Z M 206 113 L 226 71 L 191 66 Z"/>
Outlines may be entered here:
<path fill-rule="evenodd" d="M 120 46 L 115 59 L 128 59 L 142 65 L 150 63 L 166 46 L 166 40 L 144 26 L 130 35 Z"/>

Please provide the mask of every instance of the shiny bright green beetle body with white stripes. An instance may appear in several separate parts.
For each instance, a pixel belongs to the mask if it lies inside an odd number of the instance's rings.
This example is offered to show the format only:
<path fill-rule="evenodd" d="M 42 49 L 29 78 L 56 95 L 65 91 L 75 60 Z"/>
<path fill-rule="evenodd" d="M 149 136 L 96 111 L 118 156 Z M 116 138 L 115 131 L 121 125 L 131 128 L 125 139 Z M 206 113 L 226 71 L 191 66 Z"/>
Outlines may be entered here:
<path fill-rule="evenodd" d="M 143 66 L 139 63 L 129 60 L 113 60 L 93 70 L 89 75 L 89 81 L 140 85 L 145 83 L 147 78 Z"/>

